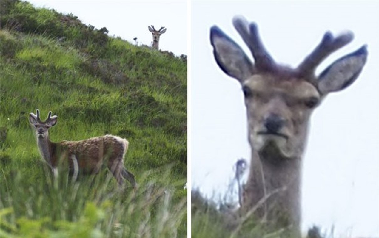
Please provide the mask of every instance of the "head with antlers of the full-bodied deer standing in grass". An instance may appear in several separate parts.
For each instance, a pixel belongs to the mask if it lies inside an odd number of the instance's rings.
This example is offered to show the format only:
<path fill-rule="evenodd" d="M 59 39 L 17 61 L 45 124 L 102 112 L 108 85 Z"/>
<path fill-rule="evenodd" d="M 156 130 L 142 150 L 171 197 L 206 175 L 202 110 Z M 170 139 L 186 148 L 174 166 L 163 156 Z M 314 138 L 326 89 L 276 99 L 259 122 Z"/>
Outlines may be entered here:
<path fill-rule="evenodd" d="M 39 118 L 39 110 L 36 110 L 37 115 L 34 113 L 29 114 L 29 123 L 35 129 L 38 138 L 48 138 L 49 128 L 53 127 L 58 121 L 58 116 L 51 116 L 52 112 L 49 111 L 46 121 L 42 122 Z"/>

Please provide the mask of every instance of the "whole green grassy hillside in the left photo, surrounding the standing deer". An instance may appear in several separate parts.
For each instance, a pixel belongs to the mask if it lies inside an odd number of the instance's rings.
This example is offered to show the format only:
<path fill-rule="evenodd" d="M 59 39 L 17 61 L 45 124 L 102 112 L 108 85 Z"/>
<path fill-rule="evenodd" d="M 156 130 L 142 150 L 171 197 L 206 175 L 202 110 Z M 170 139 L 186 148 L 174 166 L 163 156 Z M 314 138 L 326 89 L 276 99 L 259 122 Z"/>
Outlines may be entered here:
<path fill-rule="evenodd" d="M 74 15 L 0 1 L 0 237 L 186 236 L 186 56 L 138 47 Z M 53 179 L 28 115 L 51 110 L 52 141 L 114 134 L 125 167 Z"/>

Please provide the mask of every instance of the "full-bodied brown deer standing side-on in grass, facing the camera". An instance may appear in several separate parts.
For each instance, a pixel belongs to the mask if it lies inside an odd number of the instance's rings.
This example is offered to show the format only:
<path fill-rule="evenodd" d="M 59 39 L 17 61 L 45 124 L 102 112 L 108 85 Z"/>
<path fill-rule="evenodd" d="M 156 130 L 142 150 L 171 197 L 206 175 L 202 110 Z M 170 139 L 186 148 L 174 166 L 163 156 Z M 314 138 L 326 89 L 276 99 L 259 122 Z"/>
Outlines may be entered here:
<path fill-rule="evenodd" d="M 127 140 L 105 135 L 82 141 L 51 142 L 49 128 L 56 124 L 58 116 L 51 116 L 50 111 L 46 121 L 43 122 L 39 118 L 39 110 L 36 111 L 37 115 L 30 113 L 29 122 L 35 130 L 39 152 L 54 173 L 58 165 L 65 164 L 68 165 L 70 172 L 76 175 L 78 171 L 96 174 L 106 163 L 120 186 L 124 179 L 127 179 L 133 188 L 136 188 L 134 175 L 124 167 L 124 155 L 129 144 Z"/>

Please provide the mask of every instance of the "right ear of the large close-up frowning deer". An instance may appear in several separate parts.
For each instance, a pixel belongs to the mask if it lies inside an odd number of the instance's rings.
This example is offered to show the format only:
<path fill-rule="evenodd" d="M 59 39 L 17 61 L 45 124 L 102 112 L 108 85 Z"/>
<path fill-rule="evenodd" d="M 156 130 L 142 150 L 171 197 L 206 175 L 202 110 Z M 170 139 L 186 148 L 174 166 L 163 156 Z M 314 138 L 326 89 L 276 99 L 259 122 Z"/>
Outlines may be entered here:
<path fill-rule="evenodd" d="M 367 59 L 366 45 L 332 63 L 318 77 L 322 94 L 340 91 L 351 85 L 359 76 Z"/>

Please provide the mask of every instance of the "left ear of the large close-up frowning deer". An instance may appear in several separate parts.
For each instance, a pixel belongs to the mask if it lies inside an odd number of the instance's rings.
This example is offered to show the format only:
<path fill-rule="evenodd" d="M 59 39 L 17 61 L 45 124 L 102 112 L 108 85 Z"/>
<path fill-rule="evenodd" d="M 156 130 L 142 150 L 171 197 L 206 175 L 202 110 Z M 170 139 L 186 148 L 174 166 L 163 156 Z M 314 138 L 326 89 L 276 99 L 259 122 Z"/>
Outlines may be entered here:
<path fill-rule="evenodd" d="M 253 64 L 249 57 L 217 26 L 211 28 L 210 40 L 216 62 L 222 71 L 240 83 L 253 74 Z"/>

